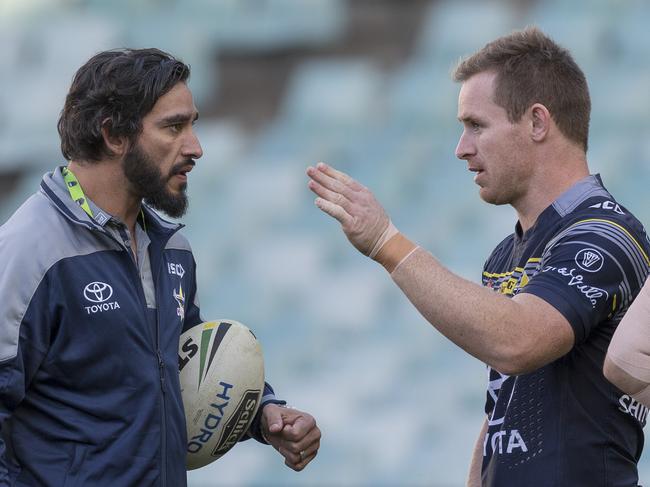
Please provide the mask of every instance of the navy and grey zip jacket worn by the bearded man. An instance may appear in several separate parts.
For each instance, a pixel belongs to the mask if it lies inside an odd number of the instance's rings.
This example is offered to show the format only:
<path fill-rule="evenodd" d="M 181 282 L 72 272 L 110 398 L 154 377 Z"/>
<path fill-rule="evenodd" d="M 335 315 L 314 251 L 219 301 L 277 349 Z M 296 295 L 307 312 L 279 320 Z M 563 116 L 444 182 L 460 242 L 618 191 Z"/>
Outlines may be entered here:
<path fill-rule="evenodd" d="M 60 179 L 0 227 L 0 485 L 186 485 L 178 344 L 203 321 L 191 248 L 143 206 L 148 305 L 128 246 Z"/>

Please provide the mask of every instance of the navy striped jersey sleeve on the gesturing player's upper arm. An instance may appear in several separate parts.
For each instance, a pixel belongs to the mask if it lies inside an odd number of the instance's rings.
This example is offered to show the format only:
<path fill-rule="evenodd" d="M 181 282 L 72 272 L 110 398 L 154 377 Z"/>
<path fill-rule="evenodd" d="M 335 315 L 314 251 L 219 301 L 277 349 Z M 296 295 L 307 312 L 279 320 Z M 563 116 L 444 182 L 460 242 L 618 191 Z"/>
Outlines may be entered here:
<path fill-rule="evenodd" d="M 562 313 L 580 343 L 599 322 L 629 307 L 649 269 L 646 251 L 623 225 L 582 220 L 547 244 L 539 271 L 521 292 Z"/>

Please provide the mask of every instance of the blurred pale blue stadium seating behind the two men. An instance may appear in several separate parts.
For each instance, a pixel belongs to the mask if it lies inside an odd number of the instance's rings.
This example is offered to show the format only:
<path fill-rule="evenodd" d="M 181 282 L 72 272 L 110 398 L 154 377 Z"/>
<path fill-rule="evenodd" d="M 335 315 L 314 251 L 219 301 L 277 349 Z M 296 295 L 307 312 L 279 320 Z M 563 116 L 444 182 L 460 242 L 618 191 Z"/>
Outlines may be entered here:
<path fill-rule="evenodd" d="M 349 172 L 403 232 L 479 282 L 516 217 L 482 203 L 454 158 L 449 74 L 537 24 L 587 74 L 592 171 L 650 225 L 648 19 L 647 0 L 0 0 L 0 222 L 63 164 L 56 120 L 81 64 L 122 46 L 182 58 L 205 154 L 184 218 L 203 316 L 253 328 L 277 394 L 323 431 L 300 474 L 249 441 L 189 484 L 461 486 L 485 367 L 349 246 L 313 205 L 305 168 Z M 650 454 L 640 470 L 650 482 Z"/>

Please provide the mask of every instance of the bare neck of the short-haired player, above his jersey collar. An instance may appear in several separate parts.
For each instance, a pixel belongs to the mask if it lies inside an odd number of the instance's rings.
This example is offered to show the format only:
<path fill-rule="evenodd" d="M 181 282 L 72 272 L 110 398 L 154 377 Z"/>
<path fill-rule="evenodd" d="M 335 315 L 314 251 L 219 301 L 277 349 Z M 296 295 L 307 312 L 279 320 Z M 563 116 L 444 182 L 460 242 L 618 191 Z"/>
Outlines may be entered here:
<path fill-rule="evenodd" d="M 533 175 L 522 197 L 512 202 L 524 232 L 535 224 L 539 215 L 560 195 L 589 175 L 584 153 L 576 154 L 573 158 L 565 156 L 546 162 L 547 164 L 539 164 L 538 167 L 542 169 Z"/>

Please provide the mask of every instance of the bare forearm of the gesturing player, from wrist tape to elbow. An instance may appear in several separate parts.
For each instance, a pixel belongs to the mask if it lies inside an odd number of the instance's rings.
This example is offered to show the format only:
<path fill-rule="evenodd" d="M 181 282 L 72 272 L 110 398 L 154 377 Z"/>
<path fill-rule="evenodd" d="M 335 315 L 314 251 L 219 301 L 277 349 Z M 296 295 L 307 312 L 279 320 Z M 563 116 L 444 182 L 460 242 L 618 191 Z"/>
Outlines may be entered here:
<path fill-rule="evenodd" d="M 542 349 L 553 350 L 557 356 L 570 349 L 564 343 L 552 342 L 540 347 L 540 327 L 531 306 L 453 274 L 422 249 L 406 258 L 391 277 L 440 333 L 503 373 L 534 370 L 555 358 Z M 536 298 L 521 299 L 530 302 Z M 545 339 L 554 340 L 555 335 L 551 333 Z"/>

